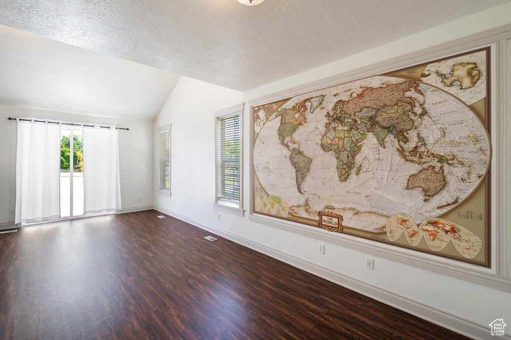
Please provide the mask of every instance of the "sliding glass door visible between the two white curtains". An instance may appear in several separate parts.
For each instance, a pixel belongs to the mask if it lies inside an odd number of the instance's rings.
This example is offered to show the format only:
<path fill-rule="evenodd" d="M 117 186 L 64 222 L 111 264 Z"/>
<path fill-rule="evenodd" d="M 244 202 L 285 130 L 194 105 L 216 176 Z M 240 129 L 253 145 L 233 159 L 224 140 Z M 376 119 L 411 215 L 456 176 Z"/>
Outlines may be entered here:
<path fill-rule="evenodd" d="M 62 125 L 60 143 L 60 217 L 83 215 L 82 127 Z"/>

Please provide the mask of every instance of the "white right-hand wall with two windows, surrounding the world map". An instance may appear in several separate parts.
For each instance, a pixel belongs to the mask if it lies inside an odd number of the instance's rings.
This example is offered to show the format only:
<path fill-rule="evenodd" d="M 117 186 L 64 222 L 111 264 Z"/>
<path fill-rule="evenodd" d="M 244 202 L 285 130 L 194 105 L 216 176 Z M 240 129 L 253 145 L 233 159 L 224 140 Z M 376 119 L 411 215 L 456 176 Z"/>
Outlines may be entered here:
<path fill-rule="evenodd" d="M 155 194 L 154 204 L 205 225 L 214 226 L 362 282 L 401 294 L 410 301 L 419 301 L 448 311 L 476 324 L 488 325 L 496 318 L 511 320 L 511 293 L 375 256 L 371 256 L 375 258 L 375 270 L 370 271 L 365 268 L 367 254 L 362 252 L 327 244 L 326 255 L 319 255 L 318 241 L 315 239 L 253 223 L 247 217 L 221 213 L 213 209 L 214 111 L 254 97 L 307 84 L 380 61 L 399 58 L 413 51 L 501 27 L 511 23 L 509 13 L 511 4 L 503 5 L 247 93 L 181 77 L 155 121 L 155 129 L 158 126 L 173 124 L 172 198 Z M 243 207 L 248 210 L 250 115 L 248 106 L 245 107 Z M 155 154 L 156 149 L 157 144 Z M 216 219 L 217 213 L 221 215 L 220 221 Z"/>

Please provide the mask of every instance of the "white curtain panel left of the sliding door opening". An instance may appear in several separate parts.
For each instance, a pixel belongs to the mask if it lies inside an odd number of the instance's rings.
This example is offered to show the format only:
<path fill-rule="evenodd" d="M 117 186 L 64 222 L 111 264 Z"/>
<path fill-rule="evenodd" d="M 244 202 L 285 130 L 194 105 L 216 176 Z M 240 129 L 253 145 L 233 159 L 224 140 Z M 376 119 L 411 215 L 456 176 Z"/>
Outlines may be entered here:
<path fill-rule="evenodd" d="M 60 124 L 17 121 L 15 223 L 60 218 Z"/>

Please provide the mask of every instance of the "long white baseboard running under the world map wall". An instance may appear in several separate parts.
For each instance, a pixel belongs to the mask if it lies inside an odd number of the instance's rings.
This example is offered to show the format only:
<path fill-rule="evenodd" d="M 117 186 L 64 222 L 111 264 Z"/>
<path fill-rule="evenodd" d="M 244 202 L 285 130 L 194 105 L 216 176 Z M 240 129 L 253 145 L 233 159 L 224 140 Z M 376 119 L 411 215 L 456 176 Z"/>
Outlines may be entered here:
<path fill-rule="evenodd" d="M 183 216 L 181 214 L 172 212 L 160 206 L 154 205 L 154 210 L 159 211 L 161 213 L 167 214 L 174 218 L 177 218 L 181 221 L 190 223 L 196 227 L 201 229 L 214 232 L 215 234 L 241 244 L 245 247 L 253 249 L 255 251 L 261 252 L 268 256 L 274 257 L 278 260 L 281 260 L 291 266 L 297 267 L 299 269 L 305 270 L 311 274 L 322 277 L 334 283 L 337 283 L 341 286 L 344 286 L 348 289 L 351 289 L 355 292 L 388 304 L 390 306 L 396 307 L 403 311 L 406 311 L 416 317 L 425 319 L 434 324 L 440 325 L 442 327 L 451 329 L 455 332 L 461 333 L 463 335 L 469 336 L 475 339 L 494 339 L 495 337 L 490 333 L 490 326 L 482 325 L 470 321 L 468 319 L 462 318 L 458 315 L 450 313 L 446 310 L 439 309 L 433 306 L 430 306 L 424 302 L 412 300 L 408 297 L 405 297 L 401 294 L 391 292 L 382 287 L 376 286 L 371 283 L 364 282 L 355 277 L 334 271 L 332 269 L 317 265 L 303 258 L 298 258 L 289 253 L 283 252 L 278 249 L 274 249 L 263 244 L 245 239 L 243 237 L 237 236 L 236 234 L 230 233 L 228 231 L 218 229 L 214 226 L 199 222 L 190 217 Z M 511 335 L 506 333 L 506 335 L 502 336 L 503 339 L 511 340 Z"/>

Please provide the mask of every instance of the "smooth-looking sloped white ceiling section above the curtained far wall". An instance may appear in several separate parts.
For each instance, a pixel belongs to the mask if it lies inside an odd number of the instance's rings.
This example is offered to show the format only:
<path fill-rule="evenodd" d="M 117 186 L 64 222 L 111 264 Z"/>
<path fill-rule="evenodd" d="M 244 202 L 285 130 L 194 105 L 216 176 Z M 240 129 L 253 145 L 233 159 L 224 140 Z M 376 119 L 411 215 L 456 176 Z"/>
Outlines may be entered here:
<path fill-rule="evenodd" d="M 154 121 L 179 75 L 0 25 L 0 104 Z"/>

